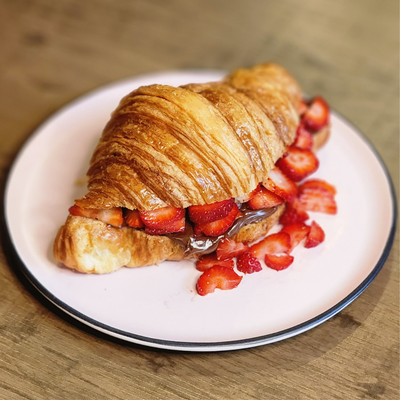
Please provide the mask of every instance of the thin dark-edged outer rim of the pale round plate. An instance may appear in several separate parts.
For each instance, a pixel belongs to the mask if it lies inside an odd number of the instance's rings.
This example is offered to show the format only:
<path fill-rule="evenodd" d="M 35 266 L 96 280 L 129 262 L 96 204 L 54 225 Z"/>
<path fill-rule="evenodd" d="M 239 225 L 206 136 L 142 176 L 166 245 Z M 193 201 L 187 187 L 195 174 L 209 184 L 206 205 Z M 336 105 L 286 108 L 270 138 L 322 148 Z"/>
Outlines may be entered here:
<path fill-rule="evenodd" d="M 49 117 L 47 117 L 33 132 L 27 140 L 24 142 L 22 147 L 19 149 L 16 157 L 14 158 L 11 168 L 9 169 L 7 178 L 6 178 L 6 184 L 5 184 L 5 190 L 4 190 L 4 195 L 3 195 L 3 204 L 4 204 L 4 216 L 5 216 L 5 225 L 7 228 L 7 234 L 10 239 L 10 243 L 13 246 L 13 250 L 15 255 L 18 257 L 18 268 L 22 271 L 22 273 L 25 275 L 25 277 L 28 279 L 30 284 L 41 294 L 43 295 L 47 300 L 49 300 L 52 304 L 58 307 L 58 309 L 62 310 L 64 313 L 67 315 L 70 315 L 71 317 L 75 318 L 76 320 L 80 321 L 81 323 L 85 324 L 86 326 L 89 326 L 97 331 L 103 332 L 107 335 L 116 337 L 118 339 L 130 342 L 130 343 L 136 343 L 139 345 L 143 346 L 148 346 L 148 347 L 155 347 L 155 348 L 161 348 L 161 349 L 167 349 L 167 350 L 179 350 L 179 351 L 193 351 L 193 352 L 208 352 L 208 351 L 228 351 L 228 350 L 239 350 L 239 349 L 245 349 L 245 348 L 250 348 L 250 347 L 256 347 L 256 346 L 261 346 L 261 345 L 266 345 L 266 344 L 271 344 L 274 342 L 278 342 L 284 339 L 288 339 L 290 337 L 296 336 L 300 333 L 303 333 L 305 331 L 308 331 L 329 318 L 333 317 L 337 313 L 339 313 L 341 310 L 343 310 L 347 305 L 349 305 L 352 301 L 354 301 L 361 293 L 370 285 L 370 283 L 375 279 L 379 271 L 382 269 L 383 265 L 385 264 L 389 254 L 390 250 L 392 248 L 395 234 L 396 234 L 396 226 L 397 226 L 397 218 L 398 218 L 398 211 L 397 211 L 397 198 L 396 198 L 396 191 L 394 188 L 394 184 L 392 181 L 392 178 L 390 176 L 390 173 L 387 169 L 387 166 L 385 162 L 383 161 L 382 157 L 378 153 L 377 149 L 373 146 L 372 142 L 369 140 L 369 138 L 353 123 L 351 122 L 348 118 L 337 112 L 336 110 L 332 110 L 332 113 L 335 114 L 335 116 L 342 120 L 346 125 L 348 125 L 358 136 L 359 138 L 364 142 L 364 144 L 367 145 L 368 149 L 373 153 L 375 156 L 376 160 L 378 161 L 380 167 L 382 168 L 382 171 L 384 173 L 384 176 L 386 177 L 386 182 L 389 186 L 389 192 L 390 192 L 390 200 L 392 203 L 392 221 L 391 221 L 391 227 L 386 239 L 385 246 L 382 249 L 382 253 L 380 258 L 378 259 L 377 263 L 375 264 L 374 268 L 371 270 L 371 272 L 366 276 L 366 278 L 355 288 L 351 293 L 349 293 L 345 298 L 343 298 L 341 301 L 327 309 L 326 311 L 316 315 L 313 318 L 308 319 L 307 321 L 304 321 L 300 324 L 294 325 L 290 328 L 269 333 L 266 335 L 260 335 L 260 336 L 254 336 L 251 338 L 244 338 L 244 339 L 236 339 L 236 340 L 227 340 L 227 341 L 215 341 L 215 342 L 195 342 L 195 341 L 175 341 L 175 340 L 166 340 L 166 339 L 157 339 L 157 338 L 152 338 L 148 336 L 142 336 L 138 334 L 134 334 L 131 332 L 126 332 L 118 328 L 114 328 L 112 326 L 109 326 L 107 324 L 104 324 L 102 322 L 99 322 L 83 313 L 80 311 L 76 310 L 75 308 L 69 306 L 62 300 L 60 300 L 57 296 L 53 295 L 46 287 L 44 287 L 41 282 L 36 279 L 36 277 L 30 272 L 29 268 L 24 264 L 22 261 L 22 258 L 18 252 L 17 247 L 14 244 L 13 237 L 11 235 L 11 228 L 10 228 L 10 222 L 9 222 L 9 217 L 8 217 L 8 212 L 7 212 L 7 204 L 8 204 L 8 197 L 9 197 L 9 192 L 10 192 L 10 186 L 11 186 L 11 181 L 13 177 L 14 170 L 16 169 L 16 166 L 19 162 L 19 160 L 23 157 L 24 152 L 27 150 L 29 145 L 33 142 L 33 140 L 40 135 L 40 132 L 46 127 L 46 125 L 50 124 L 53 120 L 55 120 L 59 115 L 61 115 L 65 110 L 68 108 L 72 108 L 76 106 L 81 101 L 89 99 L 91 96 L 94 96 L 104 90 L 111 89 L 114 86 L 122 85 L 124 83 L 127 83 L 131 80 L 134 79 L 147 79 L 150 77 L 155 77 L 157 75 L 179 75 L 182 73 L 187 73 L 187 74 L 220 74 L 223 73 L 224 71 L 220 70 L 168 70 L 168 71 L 158 71 L 158 72 L 151 72 L 147 74 L 139 74 L 136 76 L 132 77 L 127 77 L 123 78 L 114 82 L 110 82 L 108 84 L 102 85 L 98 88 L 95 88 L 81 96 L 78 96 L 77 98 L 73 99 L 72 101 L 66 103 L 64 106 L 59 108 L 57 111 L 55 111 L 53 114 L 51 114 Z"/>

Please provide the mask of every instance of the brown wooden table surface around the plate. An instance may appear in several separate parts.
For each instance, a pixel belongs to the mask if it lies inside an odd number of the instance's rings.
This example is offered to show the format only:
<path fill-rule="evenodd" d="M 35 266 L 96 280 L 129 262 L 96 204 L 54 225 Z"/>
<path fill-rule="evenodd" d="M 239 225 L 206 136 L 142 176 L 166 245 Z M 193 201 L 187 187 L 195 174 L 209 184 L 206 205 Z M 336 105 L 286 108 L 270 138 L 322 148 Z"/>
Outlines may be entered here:
<path fill-rule="evenodd" d="M 267 60 L 365 133 L 398 192 L 395 0 L 2 0 L 0 44 L 2 198 L 22 144 L 77 96 L 145 72 Z M 18 272 L 3 214 L 0 399 L 398 398 L 397 240 L 367 290 L 321 326 L 248 350 L 184 353 L 126 344 L 57 311 Z"/>

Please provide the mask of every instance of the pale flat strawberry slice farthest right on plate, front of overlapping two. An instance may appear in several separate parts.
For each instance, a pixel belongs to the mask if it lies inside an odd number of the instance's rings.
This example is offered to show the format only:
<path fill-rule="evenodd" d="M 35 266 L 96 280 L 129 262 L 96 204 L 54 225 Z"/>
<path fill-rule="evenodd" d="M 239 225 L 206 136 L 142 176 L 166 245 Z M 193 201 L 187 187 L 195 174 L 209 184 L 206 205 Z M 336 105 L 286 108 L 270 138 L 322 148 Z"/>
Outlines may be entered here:
<path fill-rule="evenodd" d="M 319 187 L 305 187 L 298 196 L 298 203 L 304 211 L 336 214 L 337 204 L 332 193 Z"/>

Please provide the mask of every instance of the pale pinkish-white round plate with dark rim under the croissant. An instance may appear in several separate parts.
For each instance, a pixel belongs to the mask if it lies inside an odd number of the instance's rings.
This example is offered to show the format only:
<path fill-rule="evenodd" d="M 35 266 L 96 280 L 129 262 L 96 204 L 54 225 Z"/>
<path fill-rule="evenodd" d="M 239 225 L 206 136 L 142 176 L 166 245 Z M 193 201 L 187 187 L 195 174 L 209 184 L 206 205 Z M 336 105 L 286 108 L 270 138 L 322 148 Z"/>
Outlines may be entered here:
<path fill-rule="evenodd" d="M 238 288 L 196 294 L 190 261 L 84 275 L 56 265 L 52 244 L 85 186 L 94 146 L 120 98 L 140 85 L 217 80 L 217 71 L 167 72 L 100 88 L 46 121 L 16 159 L 6 190 L 10 237 L 32 284 L 59 308 L 109 335 L 186 351 L 254 347 L 326 321 L 376 276 L 393 242 L 396 207 L 386 168 L 348 122 L 332 115 L 332 136 L 319 153 L 316 177 L 333 183 L 336 216 L 313 214 L 325 242 L 296 248 L 285 271 L 246 275 Z"/>

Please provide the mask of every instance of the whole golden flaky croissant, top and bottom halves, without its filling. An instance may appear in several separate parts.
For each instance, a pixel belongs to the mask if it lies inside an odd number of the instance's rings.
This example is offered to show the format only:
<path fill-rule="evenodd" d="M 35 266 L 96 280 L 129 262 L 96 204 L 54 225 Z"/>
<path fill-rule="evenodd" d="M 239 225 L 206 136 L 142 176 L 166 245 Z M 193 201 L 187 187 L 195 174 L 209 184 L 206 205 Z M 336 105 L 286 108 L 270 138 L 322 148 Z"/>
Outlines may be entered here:
<path fill-rule="evenodd" d="M 90 161 L 88 193 L 75 205 L 142 212 L 231 198 L 240 203 L 293 143 L 300 102 L 297 82 L 272 63 L 238 69 L 219 82 L 140 87 L 112 113 Z M 315 146 L 328 135 L 329 126 L 315 135 Z M 283 210 L 275 207 L 232 237 L 260 238 Z M 69 215 L 54 256 L 81 272 L 106 273 L 193 254 L 171 235 Z"/>

